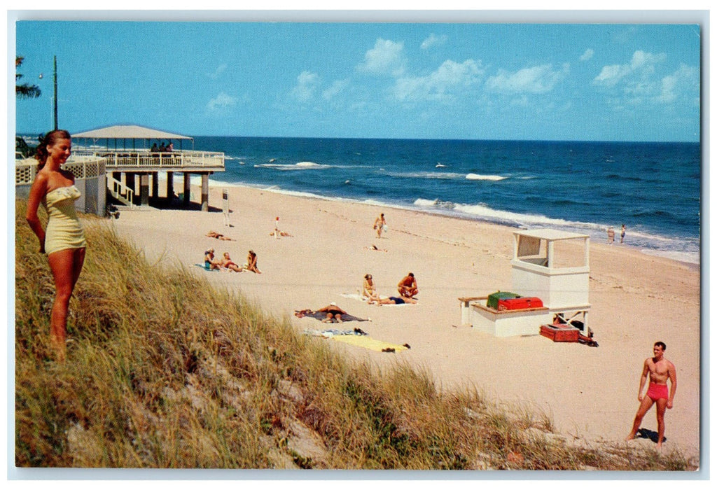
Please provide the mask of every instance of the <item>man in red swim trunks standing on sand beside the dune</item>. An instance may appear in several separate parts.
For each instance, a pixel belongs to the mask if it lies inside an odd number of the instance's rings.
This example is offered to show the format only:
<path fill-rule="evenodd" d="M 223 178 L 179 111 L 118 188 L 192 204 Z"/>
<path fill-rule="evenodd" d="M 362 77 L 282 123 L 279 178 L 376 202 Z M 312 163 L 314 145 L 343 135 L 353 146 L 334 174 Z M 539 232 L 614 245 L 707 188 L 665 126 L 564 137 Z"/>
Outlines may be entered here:
<path fill-rule="evenodd" d="M 637 400 L 640 401 L 640 408 L 637 409 L 635 422 L 632 423 L 632 431 L 627 435 L 625 441 L 635 438 L 640 428 L 642 418 L 650 410 L 653 403 L 657 403 L 657 448 L 663 447 L 663 436 L 665 435 L 665 410 L 673 408 L 675 391 L 677 390 L 677 374 L 675 365 L 665 359 L 665 342 L 655 342 L 652 347 L 653 357 L 645 359 L 640 378 L 640 390 L 637 391 Z M 650 386 L 647 388 L 646 396 L 642 396 L 642 388 L 645 388 L 647 374 L 650 374 Z M 668 393 L 668 380 L 670 380 L 670 392 Z"/>

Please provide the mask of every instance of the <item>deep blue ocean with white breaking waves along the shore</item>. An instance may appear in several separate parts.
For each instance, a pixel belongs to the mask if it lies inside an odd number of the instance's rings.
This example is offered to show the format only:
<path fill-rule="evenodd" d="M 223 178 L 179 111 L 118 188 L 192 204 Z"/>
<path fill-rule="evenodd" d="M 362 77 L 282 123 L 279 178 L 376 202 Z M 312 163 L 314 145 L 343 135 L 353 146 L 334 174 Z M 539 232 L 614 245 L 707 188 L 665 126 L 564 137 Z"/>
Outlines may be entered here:
<path fill-rule="evenodd" d="M 521 229 L 555 228 L 699 263 L 698 143 L 196 137 L 219 186 L 253 186 Z"/>

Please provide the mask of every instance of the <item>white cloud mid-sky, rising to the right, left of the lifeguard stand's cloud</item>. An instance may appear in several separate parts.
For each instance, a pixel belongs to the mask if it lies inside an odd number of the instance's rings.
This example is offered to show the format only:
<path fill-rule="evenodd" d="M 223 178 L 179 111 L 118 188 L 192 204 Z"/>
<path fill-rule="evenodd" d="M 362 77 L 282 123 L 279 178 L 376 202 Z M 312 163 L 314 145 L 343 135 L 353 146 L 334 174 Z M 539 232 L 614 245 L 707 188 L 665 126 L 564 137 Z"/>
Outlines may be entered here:
<path fill-rule="evenodd" d="M 480 62 L 467 59 L 457 63 L 450 59 L 425 77 L 402 77 L 396 80 L 394 92 L 399 100 L 453 100 L 480 81 L 485 70 Z"/>

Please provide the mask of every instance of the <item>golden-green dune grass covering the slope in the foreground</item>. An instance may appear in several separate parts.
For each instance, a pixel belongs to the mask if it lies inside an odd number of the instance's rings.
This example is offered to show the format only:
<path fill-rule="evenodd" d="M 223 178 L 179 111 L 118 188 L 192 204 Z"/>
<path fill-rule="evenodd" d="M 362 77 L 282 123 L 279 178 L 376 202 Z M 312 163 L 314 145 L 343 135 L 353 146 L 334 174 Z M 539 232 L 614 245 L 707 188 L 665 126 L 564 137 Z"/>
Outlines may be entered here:
<path fill-rule="evenodd" d="M 543 413 L 429 373 L 348 361 L 83 216 L 67 360 L 47 259 L 16 202 L 15 463 L 200 469 L 691 470 L 679 452 L 574 444 Z"/>

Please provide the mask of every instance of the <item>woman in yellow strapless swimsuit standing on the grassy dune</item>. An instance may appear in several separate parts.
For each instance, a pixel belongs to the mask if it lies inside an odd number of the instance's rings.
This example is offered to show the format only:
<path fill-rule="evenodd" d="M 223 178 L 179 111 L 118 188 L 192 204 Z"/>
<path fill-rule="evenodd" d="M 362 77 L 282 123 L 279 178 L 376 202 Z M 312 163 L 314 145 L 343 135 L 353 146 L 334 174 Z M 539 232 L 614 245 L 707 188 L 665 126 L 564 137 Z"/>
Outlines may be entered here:
<path fill-rule="evenodd" d="M 75 201 L 80 191 L 75 188 L 75 176 L 60 165 L 72 153 L 70 133 L 54 130 L 37 146 L 37 176 L 27 200 L 27 222 L 40 242 L 40 253 L 47 261 L 54 277 L 55 297 L 50 317 L 50 345 L 57 360 L 65 360 L 67 310 L 77 278 L 85 263 L 85 233 L 75 213 Z M 47 211 L 47 229 L 37 216 L 39 205 Z"/>

